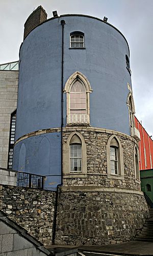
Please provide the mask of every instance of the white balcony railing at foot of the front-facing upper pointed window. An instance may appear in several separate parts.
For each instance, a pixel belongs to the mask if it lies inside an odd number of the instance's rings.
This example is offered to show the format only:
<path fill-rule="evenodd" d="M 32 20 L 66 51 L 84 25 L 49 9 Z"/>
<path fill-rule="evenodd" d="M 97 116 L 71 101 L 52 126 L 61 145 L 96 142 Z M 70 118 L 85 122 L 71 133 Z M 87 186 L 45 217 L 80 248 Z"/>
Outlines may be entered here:
<path fill-rule="evenodd" d="M 90 115 L 89 114 L 68 114 L 67 123 L 68 124 L 89 124 Z"/>

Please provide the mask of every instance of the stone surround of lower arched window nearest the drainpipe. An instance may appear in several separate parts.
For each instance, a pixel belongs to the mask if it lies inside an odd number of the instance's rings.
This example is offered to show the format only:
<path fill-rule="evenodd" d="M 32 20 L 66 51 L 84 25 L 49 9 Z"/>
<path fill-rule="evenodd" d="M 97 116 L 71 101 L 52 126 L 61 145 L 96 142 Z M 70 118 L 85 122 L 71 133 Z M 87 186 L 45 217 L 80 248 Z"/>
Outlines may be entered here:
<path fill-rule="evenodd" d="M 70 172 L 70 142 L 74 135 L 77 135 L 82 144 L 82 172 Z M 77 143 L 78 141 L 76 141 Z M 75 143 L 75 139 L 73 140 Z M 64 178 L 87 178 L 87 149 L 84 137 L 79 132 L 73 131 L 63 144 L 63 176 Z"/>

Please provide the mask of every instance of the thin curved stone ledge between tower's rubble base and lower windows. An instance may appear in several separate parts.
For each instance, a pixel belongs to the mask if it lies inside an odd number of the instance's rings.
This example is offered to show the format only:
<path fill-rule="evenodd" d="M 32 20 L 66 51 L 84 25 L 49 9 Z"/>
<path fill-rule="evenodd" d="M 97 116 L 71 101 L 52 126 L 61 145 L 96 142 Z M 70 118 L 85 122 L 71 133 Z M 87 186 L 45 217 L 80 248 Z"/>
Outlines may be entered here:
<path fill-rule="evenodd" d="M 62 192 L 108 192 L 108 193 L 129 193 L 143 195 L 143 192 L 135 189 L 97 187 L 97 186 L 65 186 L 60 187 Z"/>

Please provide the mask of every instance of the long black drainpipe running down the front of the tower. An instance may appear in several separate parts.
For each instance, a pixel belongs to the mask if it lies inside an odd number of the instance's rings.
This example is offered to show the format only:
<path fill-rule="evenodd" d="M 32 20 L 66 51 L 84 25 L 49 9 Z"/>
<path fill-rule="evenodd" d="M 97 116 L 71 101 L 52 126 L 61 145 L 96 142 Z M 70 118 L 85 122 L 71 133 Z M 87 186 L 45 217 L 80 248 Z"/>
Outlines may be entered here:
<path fill-rule="evenodd" d="M 57 185 L 56 200 L 55 200 L 55 212 L 54 212 L 54 222 L 53 222 L 53 238 L 52 243 L 55 244 L 55 234 L 56 234 L 56 221 L 57 221 L 57 207 L 58 207 L 58 195 L 59 187 L 63 185 L 63 68 L 64 68 L 64 25 L 65 21 L 62 19 L 62 72 L 61 72 L 61 184 Z"/>

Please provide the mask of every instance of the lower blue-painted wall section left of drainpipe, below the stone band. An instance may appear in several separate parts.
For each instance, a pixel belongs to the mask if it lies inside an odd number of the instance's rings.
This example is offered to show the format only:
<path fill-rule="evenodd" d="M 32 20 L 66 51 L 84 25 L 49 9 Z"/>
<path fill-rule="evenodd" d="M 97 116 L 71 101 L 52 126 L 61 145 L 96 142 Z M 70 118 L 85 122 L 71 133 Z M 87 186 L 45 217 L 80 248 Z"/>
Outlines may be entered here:
<path fill-rule="evenodd" d="M 13 169 L 46 176 L 45 189 L 61 183 L 61 134 L 58 132 L 29 137 L 14 147 Z"/>

